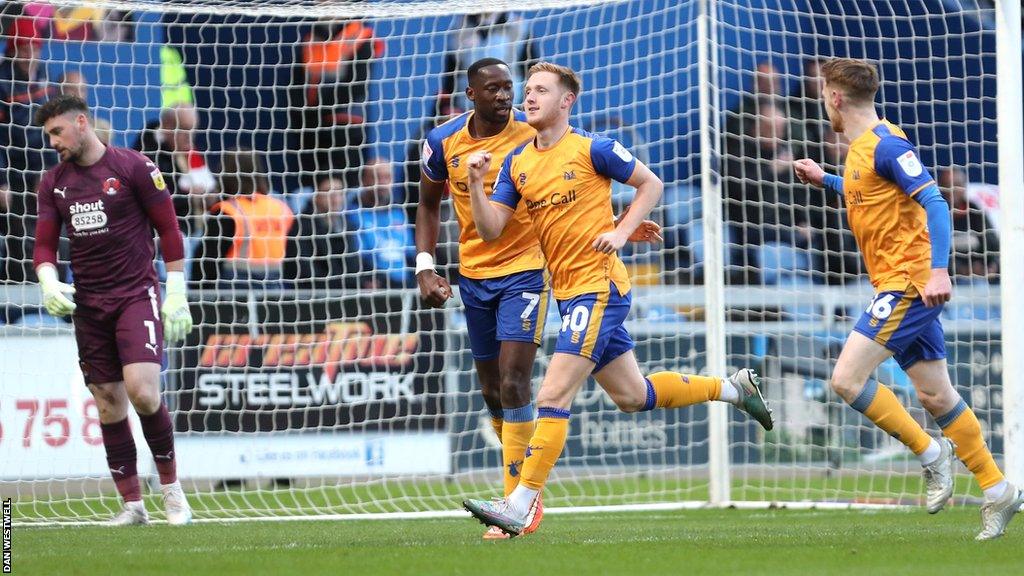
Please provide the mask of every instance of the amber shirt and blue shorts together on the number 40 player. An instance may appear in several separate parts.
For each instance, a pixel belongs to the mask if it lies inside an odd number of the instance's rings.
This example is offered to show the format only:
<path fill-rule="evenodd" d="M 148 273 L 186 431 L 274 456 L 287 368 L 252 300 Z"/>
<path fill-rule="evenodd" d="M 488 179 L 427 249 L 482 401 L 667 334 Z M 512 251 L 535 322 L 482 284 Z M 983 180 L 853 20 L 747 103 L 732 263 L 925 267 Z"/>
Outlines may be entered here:
<path fill-rule="evenodd" d="M 517 148 L 490 197 L 507 209 L 526 207 L 562 317 L 555 352 L 592 360 L 595 372 L 634 346 L 623 326 L 632 303 L 626 266 L 593 243 L 614 230 L 611 179 L 626 182 L 635 168 L 618 142 L 569 128 L 549 149 L 532 140 Z"/>

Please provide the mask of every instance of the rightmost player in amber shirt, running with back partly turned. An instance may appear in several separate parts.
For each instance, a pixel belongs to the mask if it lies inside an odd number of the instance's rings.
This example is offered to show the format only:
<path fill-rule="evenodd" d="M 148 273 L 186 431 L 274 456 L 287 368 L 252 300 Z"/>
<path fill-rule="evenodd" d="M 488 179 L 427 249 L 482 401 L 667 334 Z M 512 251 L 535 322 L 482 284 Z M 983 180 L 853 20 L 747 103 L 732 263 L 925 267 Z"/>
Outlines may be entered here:
<path fill-rule="evenodd" d="M 795 162 L 794 169 L 801 181 L 846 199 L 850 229 L 876 290 L 836 362 L 833 389 L 918 456 L 930 513 L 941 510 L 952 495 L 952 465 L 959 456 L 985 493 L 977 539 L 995 538 L 1024 504 L 1024 493 L 1002 477 L 978 418 L 949 380 L 939 320 L 952 291 L 946 272 L 949 206 L 903 130 L 874 111 L 874 67 L 836 58 L 821 67 L 821 75 L 828 120 L 850 140 L 846 171 L 825 174 L 806 159 Z M 945 439 L 929 436 L 892 390 L 869 379 L 889 357 L 910 377 Z"/>

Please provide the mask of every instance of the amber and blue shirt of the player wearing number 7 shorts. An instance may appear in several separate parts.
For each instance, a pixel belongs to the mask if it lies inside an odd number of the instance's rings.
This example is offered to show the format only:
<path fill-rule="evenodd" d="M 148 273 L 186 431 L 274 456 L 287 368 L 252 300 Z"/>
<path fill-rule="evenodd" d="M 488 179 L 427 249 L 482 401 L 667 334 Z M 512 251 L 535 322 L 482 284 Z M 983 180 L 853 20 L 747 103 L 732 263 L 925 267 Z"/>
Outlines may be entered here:
<path fill-rule="evenodd" d="M 467 112 L 427 133 L 423 142 L 422 171 L 435 182 L 447 181 L 455 213 L 459 220 L 459 273 L 473 279 L 508 276 L 527 270 L 542 270 L 544 257 L 537 237 L 528 225 L 526 209 L 516 211 L 512 222 L 494 242 L 483 242 L 469 203 L 469 168 L 466 161 L 474 152 L 486 151 L 494 158 L 504 158 L 537 133 L 526 124 L 526 115 L 513 111 L 508 126 L 494 136 L 475 138 L 469 133 Z M 500 164 L 495 162 L 483 181 L 489 194 L 495 186 Z"/>

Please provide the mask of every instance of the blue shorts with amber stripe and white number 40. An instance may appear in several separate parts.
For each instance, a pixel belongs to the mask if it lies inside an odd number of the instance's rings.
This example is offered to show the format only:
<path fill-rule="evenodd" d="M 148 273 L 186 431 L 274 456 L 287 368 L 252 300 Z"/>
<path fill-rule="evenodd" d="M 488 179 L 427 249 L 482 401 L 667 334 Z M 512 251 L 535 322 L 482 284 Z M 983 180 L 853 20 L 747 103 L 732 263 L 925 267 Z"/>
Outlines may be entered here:
<path fill-rule="evenodd" d="M 630 313 L 633 295 L 618 295 L 610 283 L 607 292 L 580 294 L 558 300 L 562 327 L 558 332 L 555 352 L 582 356 L 593 360 L 599 372 L 609 362 L 634 348 L 633 338 L 623 326 Z"/>

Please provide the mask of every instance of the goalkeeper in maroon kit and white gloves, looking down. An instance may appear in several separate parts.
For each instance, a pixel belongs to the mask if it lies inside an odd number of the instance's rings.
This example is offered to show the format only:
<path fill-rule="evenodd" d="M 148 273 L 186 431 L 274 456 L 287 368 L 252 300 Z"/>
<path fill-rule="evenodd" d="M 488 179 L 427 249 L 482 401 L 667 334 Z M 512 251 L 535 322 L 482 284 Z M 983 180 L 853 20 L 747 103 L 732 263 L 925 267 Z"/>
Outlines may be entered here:
<path fill-rule="evenodd" d="M 46 311 L 73 315 L 82 374 L 96 399 L 106 462 L 124 500 L 111 523 L 148 523 L 128 425 L 130 402 L 160 474 L 167 521 L 187 524 L 191 510 L 177 480 L 174 427 L 160 397 L 164 340 L 181 340 L 193 326 L 181 233 L 160 170 L 137 152 L 103 146 L 89 118 L 85 101 L 70 95 L 50 99 L 36 114 L 60 163 L 37 190 L 33 263 Z M 74 286 L 57 279 L 61 227 L 71 240 Z M 163 303 L 153 266 L 154 229 L 167 262 Z"/>

